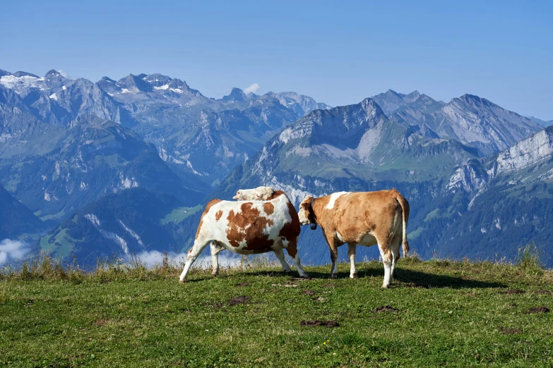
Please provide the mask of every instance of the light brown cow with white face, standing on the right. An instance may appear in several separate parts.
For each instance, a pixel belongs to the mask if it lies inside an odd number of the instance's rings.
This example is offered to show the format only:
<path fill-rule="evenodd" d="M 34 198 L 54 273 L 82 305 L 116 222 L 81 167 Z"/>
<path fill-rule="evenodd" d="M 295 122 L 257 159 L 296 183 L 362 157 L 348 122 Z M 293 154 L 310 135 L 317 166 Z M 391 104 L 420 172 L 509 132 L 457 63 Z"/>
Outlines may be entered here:
<path fill-rule="evenodd" d="M 393 280 L 393 271 L 400 257 L 409 252 L 407 223 L 409 202 L 396 190 L 379 192 L 338 192 L 326 197 L 306 197 L 299 207 L 299 222 L 319 224 L 331 250 L 331 277 L 338 273 L 338 247 L 347 243 L 350 277 L 356 278 L 355 248 L 378 244 L 384 264 L 383 288 Z"/>

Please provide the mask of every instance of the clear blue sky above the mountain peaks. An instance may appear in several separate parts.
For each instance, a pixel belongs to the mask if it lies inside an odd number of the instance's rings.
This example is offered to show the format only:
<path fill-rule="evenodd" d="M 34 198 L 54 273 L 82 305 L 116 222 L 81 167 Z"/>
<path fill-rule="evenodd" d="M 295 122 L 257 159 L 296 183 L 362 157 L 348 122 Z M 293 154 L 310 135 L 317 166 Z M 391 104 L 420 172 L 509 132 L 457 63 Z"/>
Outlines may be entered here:
<path fill-rule="evenodd" d="M 553 119 L 553 1 L 24 1 L 0 6 L 0 68 L 96 81 L 254 83 L 332 106 L 388 89 L 477 94 Z"/>

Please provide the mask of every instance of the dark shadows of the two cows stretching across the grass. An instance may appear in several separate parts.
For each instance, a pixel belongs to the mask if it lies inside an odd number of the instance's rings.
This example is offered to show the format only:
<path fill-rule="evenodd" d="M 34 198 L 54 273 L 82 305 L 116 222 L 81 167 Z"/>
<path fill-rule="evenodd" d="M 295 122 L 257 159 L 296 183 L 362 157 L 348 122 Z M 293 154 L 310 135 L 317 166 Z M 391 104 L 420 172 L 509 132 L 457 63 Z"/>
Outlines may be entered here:
<path fill-rule="evenodd" d="M 328 267 L 328 272 L 320 271 L 307 271 L 310 278 L 331 280 L 330 276 L 330 266 Z M 284 271 L 254 271 L 248 270 L 243 271 L 244 276 L 290 276 L 290 278 L 297 278 L 299 275 L 297 271 L 292 271 L 292 274 L 286 274 Z M 359 278 L 366 277 L 376 277 L 383 278 L 384 270 L 383 269 L 364 269 L 358 270 L 357 275 Z M 233 275 L 219 275 L 218 278 L 234 277 Z M 350 272 L 338 272 L 338 279 L 340 278 L 350 278 Z M 205 278 L 196 279 L 195 281 L 201 281 Z M 301 281 L 300 281 L 301 282 Z M 392 288 L 452 288 L 452 289 L 462 289 L 462 288 L 506 288 L 507 286 L 504 283 L 499 283 L 495 281 L 478 281 L 472 280 L 466 277 L 456 277 L 456 276 L 447 276 L 447 275 L 438 275 L 438 274 L 428 274 L 421 271 L 412 271 L 410 269 L 396 269 L 394 274 L 394 281 L 392 283 Z"/>

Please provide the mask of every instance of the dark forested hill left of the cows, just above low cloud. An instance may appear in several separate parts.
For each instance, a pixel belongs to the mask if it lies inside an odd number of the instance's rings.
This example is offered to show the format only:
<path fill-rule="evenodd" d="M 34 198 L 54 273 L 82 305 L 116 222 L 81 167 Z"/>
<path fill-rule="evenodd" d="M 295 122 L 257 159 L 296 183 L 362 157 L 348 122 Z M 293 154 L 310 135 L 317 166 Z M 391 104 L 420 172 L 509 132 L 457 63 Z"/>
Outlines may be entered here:
<path fill-rule="evenodd" d="M 75 255 L 83 264 L 98 258 L 130 257 L 152 250 L 178 252 L 188 242 L 179 222 L 194 213 L 172 195 L 131 188 L 85 204 L 40 240 L 40 248 L 59 258 Z"/>

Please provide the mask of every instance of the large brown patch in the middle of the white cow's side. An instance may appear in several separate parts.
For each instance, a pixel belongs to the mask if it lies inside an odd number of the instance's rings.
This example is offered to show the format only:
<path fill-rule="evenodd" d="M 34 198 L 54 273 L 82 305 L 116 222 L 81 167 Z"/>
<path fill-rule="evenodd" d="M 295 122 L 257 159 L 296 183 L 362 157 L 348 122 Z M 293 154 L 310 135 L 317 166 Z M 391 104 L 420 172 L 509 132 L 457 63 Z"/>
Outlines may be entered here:
<path fill-rule="evenodd" d="M 269 235 L 263 234 L 267 226 L 273 226 L 273 221 L 260 214 L 251 202 L 242 204 L 237 214 L 230 211 L 227 217 L 227 237 L 230 245 L 239 247 L 240 243 L 246 242 L 245 250 L 268 250 L 273 246 L 274 242 L 269 239 Z"/>

